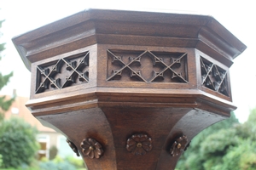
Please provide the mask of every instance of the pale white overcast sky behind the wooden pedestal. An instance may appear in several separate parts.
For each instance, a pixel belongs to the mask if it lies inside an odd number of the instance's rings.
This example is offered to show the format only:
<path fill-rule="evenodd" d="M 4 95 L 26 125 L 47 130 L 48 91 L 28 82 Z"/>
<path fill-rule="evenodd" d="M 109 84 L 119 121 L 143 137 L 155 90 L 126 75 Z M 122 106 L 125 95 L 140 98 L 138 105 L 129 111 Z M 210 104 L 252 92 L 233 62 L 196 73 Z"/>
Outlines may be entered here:
<path fill-rule="evenodd" d="M 1 28 L 0 42 L 6 42 L 6 50 L 1 54 L 0 72 L 14 71 L 7 87 L 0 94 L 11 95 L 13 89 L 19 96 L 30 95 L 30 72 L 20 59 L 11 38 L 32 31 L 55 20 L 76 14 L 87 8 L 124 9 L 136 11 L 156 11 L 163 13 L 204 14 L 213 16 L 232 32 L 247 49 L 230 68 L 233 103 L 240 122 L 245 122 L 249 111 L 256 107 L 256 10 L 253 0 L 0 0 L 0 20 L 5 20 Z"/>

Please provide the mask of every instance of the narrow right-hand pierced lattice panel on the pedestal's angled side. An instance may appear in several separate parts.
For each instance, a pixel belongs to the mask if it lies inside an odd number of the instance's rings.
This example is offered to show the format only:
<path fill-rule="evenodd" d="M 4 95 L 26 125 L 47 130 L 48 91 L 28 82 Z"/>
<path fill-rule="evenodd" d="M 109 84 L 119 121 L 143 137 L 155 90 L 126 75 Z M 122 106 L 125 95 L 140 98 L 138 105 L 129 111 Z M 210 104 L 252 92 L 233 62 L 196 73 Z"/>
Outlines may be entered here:
<path fill-rule="evenodd" d="M 201 84 L 220 94 L 229 96 L 227 71 L 201 57 Z"/>

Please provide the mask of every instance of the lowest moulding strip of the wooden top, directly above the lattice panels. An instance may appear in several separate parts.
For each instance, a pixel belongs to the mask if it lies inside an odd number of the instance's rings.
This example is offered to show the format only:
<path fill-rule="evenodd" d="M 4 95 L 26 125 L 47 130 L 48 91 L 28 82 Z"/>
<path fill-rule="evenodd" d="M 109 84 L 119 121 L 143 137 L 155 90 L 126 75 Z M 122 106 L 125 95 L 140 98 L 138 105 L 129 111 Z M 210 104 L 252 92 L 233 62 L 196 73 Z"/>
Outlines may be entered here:
<path fill-rule="evenodd" d="M 125 40 L 125 42 L 124 42 Z M 137 42 L 136 40 L 139 40 Z M 23 60 L 26 68 L 31 71 L 31 63 L 37 62 L 40 59 L 49 59 L 55 55 L 65 54 L 71 47 L 71 43 L 74 43 L 76 48 L 84 48 L 86 46 L 92 46 L 96 43 L 102 44 L 121 44 L 121 45 L 142 45 L 151 47 L 177 47 L 177 48 L 196 48 L 205 53 L 208 53 L 217 60 L 223 59 L 224 65 L 230 67 L 232 57 L 230 54 L 220 53 L 218 48 L 212 48 L 212 43 L 208 43 L 198 38 L 177 38 L 177 37 L 146 37 L 146 36 L 131 36 L 131 35 L 112 35 L 112 34 L 96 34 L 90 37 L 83 37 L 73 42 L 60 43 L 50 48 L 42 48 L 33 51 L 27 51 L 22 45 L 15 45 L 15 48 L 19 52 L 21 59 Z M 153 42 L 153 44 L 152 44 Z M 188 46 L 189 44 L 189 46 Z M 65 48 L 63 48 L 65 47 Z M 238 55 L 238 54 L 237 54 Z"/>

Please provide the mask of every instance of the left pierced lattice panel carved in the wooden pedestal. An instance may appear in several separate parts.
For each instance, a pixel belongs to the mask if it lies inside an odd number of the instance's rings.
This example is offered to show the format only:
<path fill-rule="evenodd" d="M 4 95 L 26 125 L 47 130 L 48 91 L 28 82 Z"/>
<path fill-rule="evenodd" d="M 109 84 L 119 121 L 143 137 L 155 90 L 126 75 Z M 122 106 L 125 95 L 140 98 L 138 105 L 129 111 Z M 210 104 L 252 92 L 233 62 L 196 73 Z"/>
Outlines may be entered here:
<path fill-rule="evenodd" d="M 88 68 L 88 52 L 38 65 L 36 94 L 89 82 Z"/>

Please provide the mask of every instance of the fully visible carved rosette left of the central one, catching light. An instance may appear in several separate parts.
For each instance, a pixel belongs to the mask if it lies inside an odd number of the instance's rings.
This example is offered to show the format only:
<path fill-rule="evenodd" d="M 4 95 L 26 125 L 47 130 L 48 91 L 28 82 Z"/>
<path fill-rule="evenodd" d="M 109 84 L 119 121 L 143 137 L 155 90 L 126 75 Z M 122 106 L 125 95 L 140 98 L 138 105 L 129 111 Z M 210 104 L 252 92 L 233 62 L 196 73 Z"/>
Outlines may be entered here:
<path fill-rule="evenodd" d="M 84 139 L 81 144 L 83 153 L 91 159 L 100 158 L 103 154 L 102 144 L 98 143 L 95 139 Z"/>

